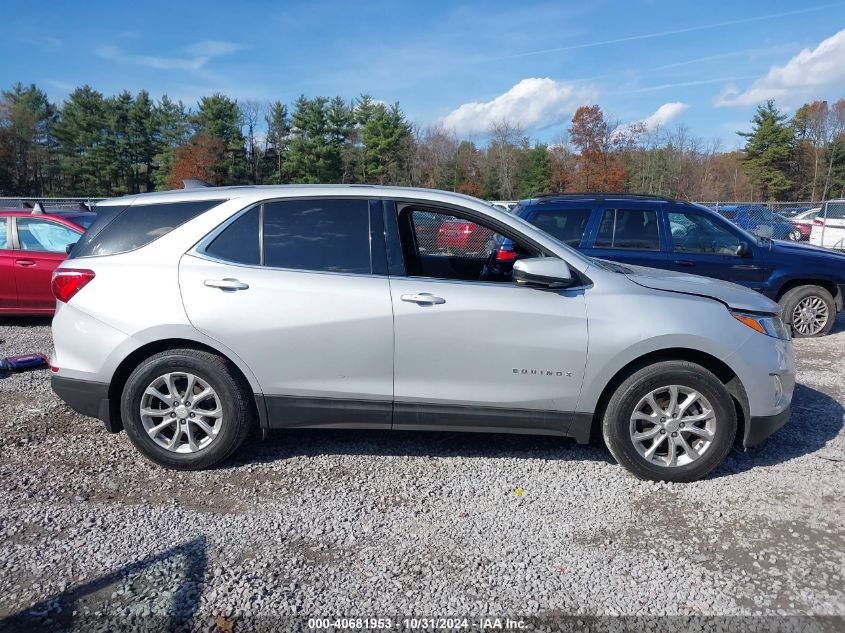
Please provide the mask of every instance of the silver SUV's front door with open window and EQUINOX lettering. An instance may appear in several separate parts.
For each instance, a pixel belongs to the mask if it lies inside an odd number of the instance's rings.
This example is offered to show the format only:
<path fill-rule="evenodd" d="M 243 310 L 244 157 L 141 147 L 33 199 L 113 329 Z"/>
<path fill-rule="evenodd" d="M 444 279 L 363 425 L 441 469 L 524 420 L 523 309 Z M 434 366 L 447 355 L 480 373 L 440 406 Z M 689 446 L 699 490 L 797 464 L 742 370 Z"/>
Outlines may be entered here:
<path fill-rule="evenodd" d="M 391 269 L 394 428 L 566 434 L 587 353 L 583 289 L 517 287 L 514 258 L 539 254 L 524 239 L 471 212 L 398 206 L 407 274 Z M 420 220 L 467 237 L 416 230 Z M 502 238 L 512 252 L 497 250 Z"/>

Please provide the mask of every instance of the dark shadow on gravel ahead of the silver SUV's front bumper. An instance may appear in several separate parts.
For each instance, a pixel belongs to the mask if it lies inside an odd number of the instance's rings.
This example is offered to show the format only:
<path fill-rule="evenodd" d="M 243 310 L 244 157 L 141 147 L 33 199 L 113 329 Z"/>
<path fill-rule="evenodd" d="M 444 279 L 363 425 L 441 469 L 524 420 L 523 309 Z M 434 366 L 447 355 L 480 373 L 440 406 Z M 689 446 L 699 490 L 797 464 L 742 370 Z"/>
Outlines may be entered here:
<path fill-rule="evenodd" d="M 815 453 L 835 438 L 844 424 L 842 404 L 826 393 L 796 384 L 789 421 L 760 446 L 748 450 L 736 446 L 711 477 L 773 466 Z"/>

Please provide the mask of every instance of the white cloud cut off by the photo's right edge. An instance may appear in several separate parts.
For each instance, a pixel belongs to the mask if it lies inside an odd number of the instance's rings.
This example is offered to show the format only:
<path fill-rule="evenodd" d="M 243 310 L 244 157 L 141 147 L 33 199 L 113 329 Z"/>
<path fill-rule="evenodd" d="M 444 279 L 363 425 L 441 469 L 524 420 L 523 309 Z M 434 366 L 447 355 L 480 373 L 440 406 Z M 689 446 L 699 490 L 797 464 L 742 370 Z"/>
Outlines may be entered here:
<path fill-rule="evenodd" d="M 845 85 L 845 29 L 823 40 L 815 49 L 805 48 L 783 66 L 772 66 L 751 87 L 740 92 L 728 84 L 716 97 L 717 106 L 750 106 L 776 99 L 787 107 L 824 97 Z"/>

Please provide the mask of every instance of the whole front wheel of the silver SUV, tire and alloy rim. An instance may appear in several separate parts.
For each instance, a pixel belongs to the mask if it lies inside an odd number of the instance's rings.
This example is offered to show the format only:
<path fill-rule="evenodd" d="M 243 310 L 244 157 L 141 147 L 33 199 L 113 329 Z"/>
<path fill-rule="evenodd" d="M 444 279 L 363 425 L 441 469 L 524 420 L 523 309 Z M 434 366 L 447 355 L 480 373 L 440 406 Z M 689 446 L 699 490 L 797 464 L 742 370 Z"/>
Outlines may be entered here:
<path fill-rule="evenodd" d="M 602 431 L 613 457 L 640 479 L 696 481 L 733 444 L 737 420 L 722 382 L 700 365 L 664 361 L 626 379 L 610 398 Z"/>

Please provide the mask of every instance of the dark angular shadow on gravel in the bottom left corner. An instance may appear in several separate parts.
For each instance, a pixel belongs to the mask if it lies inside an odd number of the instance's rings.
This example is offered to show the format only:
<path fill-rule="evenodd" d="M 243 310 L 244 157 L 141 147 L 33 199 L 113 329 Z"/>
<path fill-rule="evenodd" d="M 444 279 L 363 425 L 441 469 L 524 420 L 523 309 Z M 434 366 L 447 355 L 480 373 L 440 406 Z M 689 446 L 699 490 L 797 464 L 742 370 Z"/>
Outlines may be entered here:
<path fill-rule="evenodd" d="M 0 618 L 0 631 L 121 631 L 132 628 L 133 617 L 134 630 L 188 630 L 199 609 L 207 564 L 206 538 L 200 536 Z M 174 569 L 162 575 L 161 567 L 165 566 Z M 157 587 L 156 584 L 165 582 L 162 578 L 167 579 L 166 586 Z M 171 588 L 174 578 L 180 580 L 176 591 Z M 115 607 L 113 592 L 127 579 L 131 580 L 130 593 L 118 597 L 124 604 Z M 154 591 L 142 594 L 136 591 L 139 587 Z M 138 598 L 139 595 L 161 595 L 155 590 L 168 591 L 169 605 L 150 605 L 147 603 L 149 598 Z M 166 595 L 164 601 L 168 602 Z M 157 615 L 152 614 L 151 606 L 155 606 Z M 130 612 L 124 612 L 127 608 L 141 613 L 132 616 Z M 158 615 L 162 612 L 165 614 Z M 140 622 L 143 627 L 138 626 Z"/>

